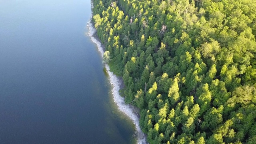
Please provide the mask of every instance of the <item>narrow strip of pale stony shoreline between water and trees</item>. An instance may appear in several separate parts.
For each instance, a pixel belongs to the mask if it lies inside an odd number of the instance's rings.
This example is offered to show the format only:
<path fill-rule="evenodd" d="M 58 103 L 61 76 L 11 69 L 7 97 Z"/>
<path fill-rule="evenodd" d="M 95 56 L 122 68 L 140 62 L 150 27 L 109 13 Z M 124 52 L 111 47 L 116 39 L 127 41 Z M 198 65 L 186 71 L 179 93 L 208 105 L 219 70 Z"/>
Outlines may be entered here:
<path fill-rule="evenodd" d="M 96 33 L 96 29 L 94 28 L 91 22 L 91 19 L 87 24 L 87 28 L 89 30 L 88 35 L 90 36 L 92 42 L 96 44 L 98 51 L 100 52 L 100 55 L 103 58 L 104 50 L 101 43 L 94 37 L 94 34 Z M 104 64 L 104 65 L 109 75 L 110 84 L 112 85 L 112 96 L 113 96 L 114 102 L 118 106 L 118 110 L 120 110 L 122 113 L 128 116 L 134 123 L 135 129 L 136 129 L 137 143 L 147 144 L 146 135 L 142 132 L 139 126 L 139 117 L 132 110 L 131 106 L 124 103 L 124 98 L 121 97 L 119 94 L 120 84 L 121 84 L 120 80 L 118 80 L 118 77 L 115 74 L 113 74 L 113 72 L 110 72 L 110 68 L 108 64 Z"/>

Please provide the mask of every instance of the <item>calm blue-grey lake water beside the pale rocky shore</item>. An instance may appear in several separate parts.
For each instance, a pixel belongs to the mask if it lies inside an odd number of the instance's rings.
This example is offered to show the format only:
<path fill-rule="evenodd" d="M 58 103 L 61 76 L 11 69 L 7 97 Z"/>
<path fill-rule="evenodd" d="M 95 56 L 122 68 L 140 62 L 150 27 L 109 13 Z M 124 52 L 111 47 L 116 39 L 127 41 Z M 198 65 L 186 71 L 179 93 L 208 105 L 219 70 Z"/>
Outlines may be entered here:
<path fill-rule="evenodd" d="M 90 0 L 0 0 L 0 144 L 132 143 L 90 14 Z"/>

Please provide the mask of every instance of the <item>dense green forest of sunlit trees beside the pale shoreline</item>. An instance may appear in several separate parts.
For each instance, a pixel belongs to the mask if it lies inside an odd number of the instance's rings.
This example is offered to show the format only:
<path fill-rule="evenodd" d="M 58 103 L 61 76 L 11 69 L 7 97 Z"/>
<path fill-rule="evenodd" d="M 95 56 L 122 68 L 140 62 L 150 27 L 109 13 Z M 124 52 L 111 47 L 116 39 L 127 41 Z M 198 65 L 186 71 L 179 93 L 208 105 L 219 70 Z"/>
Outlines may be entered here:
<path fill-rule="evenodd" d="M 92 0 L 150 144 L 256 143 L 256 0 Z"/>

